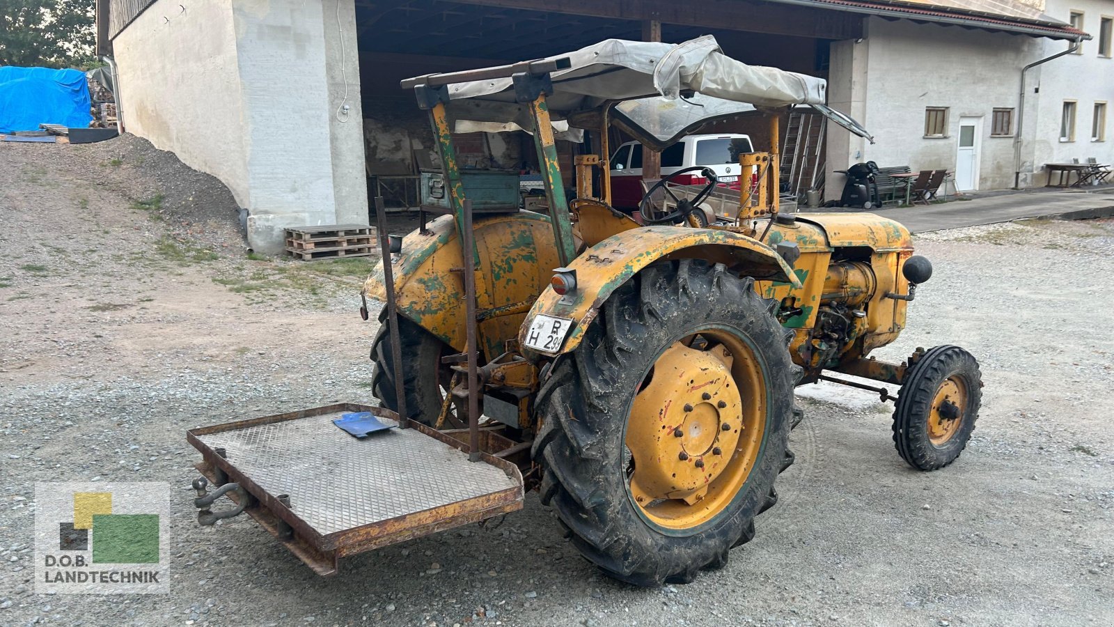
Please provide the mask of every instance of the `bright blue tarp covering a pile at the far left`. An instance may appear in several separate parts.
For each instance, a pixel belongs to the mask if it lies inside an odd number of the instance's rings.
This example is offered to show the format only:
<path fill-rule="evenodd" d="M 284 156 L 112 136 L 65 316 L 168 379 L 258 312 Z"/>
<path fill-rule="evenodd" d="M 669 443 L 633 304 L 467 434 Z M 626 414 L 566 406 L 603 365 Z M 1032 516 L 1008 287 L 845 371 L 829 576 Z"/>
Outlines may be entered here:
<path fill-rule="evenodd" d="M 0 67 L 0 134 L 38 131 L 40 124 L 86 128 L 90 122 L 84 71 Z"/>

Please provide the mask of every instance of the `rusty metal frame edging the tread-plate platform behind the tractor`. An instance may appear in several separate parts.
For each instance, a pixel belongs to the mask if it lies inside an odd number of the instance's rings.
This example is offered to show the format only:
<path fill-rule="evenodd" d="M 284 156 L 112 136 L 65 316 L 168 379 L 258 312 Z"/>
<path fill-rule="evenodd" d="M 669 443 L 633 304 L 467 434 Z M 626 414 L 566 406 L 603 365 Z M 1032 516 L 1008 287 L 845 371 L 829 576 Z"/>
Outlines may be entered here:
<path fill-rule="evenodd" d="M 247 505 L 247 514 L 271 532 L 272 536 L 277 538 L 292 553 L 297 556 L 299 559 L 305 562 L 317 575 L 329 576 L 336 573 L 338 560 L 342 557 L 379 549 L 411 538 L 428 536 L 461 524 L 478 522 L 522 509 L 522 474 L 518 470 L 518 466 L 501 457 L 477 451 L 475 455 L 478 461 L 498 467 L 507 476 L 516 480 L 518 485 L 477 499 L 459 501 L 323 536 L 302 520 L 294 510 L 289 508 L 280 499 L 278 494 L 271 494 L 264 490 L 250 476 L 241 472 L 235 466 L 234 461 L 226 460 L 201 440 L 201 436 L 212 433 L 237 431 L 283 421 L 296 421 L 335 412 L 370 412 L 380 418 L 399 421 L 397 413 L 383 407 L 339 403 L 313 409 L 199 427 L 186 432 L 186 441 L 202 454 L 203 461 L 196 465 L 197 470 L 214 483 L 226 478 L 227 481 L 236 482 L 246 490 L 253 500 Z M 458 451 L 471 454 L 468 444 L 449 435 L 441 434 L 421 423 L 411 421 L 410 428 L 417 430 L 443 444 L 448 444 Z"/>

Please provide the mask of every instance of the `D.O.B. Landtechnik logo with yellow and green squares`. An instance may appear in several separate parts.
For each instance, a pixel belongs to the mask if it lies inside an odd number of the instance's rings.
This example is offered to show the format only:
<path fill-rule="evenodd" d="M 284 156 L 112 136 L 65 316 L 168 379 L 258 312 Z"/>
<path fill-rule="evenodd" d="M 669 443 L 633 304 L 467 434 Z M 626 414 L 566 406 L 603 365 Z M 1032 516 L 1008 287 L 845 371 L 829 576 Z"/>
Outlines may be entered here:
<path fill-rule="evenodd" d="M 167 591 L 167 484 L 37 483 L 35 590 Z"/>

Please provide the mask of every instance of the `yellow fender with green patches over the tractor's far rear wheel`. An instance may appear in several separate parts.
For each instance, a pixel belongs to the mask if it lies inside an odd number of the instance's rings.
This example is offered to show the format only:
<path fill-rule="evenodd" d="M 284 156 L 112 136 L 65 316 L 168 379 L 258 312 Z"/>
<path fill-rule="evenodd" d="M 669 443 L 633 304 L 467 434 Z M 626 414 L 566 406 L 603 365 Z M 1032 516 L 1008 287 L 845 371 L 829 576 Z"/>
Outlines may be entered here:
<path fill-rule="evenodd" d="M 489 358 L 505 350 L 529 306 L 560 264 L 549 218 L 528 211 L 475 220 L 476 303 L 481 350 Z M 399 315 L 457 350 L 465 349 L 465 284 L 460 238 L 451 215 L 441 215 L 402 239 L 392 255 Z M 363 284 L 363 295 L 387 301 L 382 260 Z"/>

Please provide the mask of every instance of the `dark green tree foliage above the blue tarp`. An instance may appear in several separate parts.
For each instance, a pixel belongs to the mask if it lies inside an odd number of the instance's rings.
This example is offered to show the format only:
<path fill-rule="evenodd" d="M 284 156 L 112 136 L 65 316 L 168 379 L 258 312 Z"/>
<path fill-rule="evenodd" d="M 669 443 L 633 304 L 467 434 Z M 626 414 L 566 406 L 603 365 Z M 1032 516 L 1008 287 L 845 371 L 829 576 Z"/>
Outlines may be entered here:
<path fill-rule="evenodd" d="M 96 61 L 96 0 L 0 0 L 0 66 Z"/>

